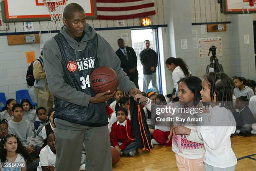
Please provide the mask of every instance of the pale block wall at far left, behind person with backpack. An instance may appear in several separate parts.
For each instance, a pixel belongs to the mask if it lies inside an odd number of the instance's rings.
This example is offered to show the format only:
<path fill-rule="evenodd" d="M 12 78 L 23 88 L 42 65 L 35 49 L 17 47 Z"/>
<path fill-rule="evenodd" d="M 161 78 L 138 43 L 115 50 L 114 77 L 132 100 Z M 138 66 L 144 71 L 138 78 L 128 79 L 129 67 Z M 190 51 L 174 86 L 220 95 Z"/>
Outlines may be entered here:
<path fill-rule="evenodd" d="M 0 92 L 4 92 L 7 99 L 16 99 L 15 91 L 28 89 L 26 51 L 35 51 L 38 56 L 40 48 L 38 44 L 8 46 L 7 36 L 0 36 Z M 30 95 L 35 101 L 33 88 Z"/>

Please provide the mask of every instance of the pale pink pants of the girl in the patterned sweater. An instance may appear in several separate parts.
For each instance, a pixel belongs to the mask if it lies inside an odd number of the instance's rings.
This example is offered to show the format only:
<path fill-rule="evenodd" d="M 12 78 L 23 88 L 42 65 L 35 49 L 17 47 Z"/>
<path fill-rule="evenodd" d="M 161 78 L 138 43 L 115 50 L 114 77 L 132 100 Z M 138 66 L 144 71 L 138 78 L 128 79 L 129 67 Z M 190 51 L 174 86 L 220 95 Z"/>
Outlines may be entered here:
<path fill-rule="evenodd" d="M 204 159 L 188 159 L 178 154 L 175 154 L 177 167 L 179 171 L 204 171 L 205 170 L 205 163 Z"/>

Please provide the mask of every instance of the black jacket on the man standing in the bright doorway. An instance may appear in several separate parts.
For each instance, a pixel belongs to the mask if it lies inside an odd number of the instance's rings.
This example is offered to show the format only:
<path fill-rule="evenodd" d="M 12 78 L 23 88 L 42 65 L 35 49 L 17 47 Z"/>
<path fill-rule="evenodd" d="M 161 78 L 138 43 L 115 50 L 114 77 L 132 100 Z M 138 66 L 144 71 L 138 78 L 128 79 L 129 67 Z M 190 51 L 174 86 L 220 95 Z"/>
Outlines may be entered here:
<path fill-rule="evenodd" d="M 141 64 L 143 66 L 143 74 L 149 75 L 152 73 L 156 73 L 156 67 L 158 64 L 158 58 L 155 50 L 149 49 L 149 50 L 142 50 L 140 53 L 141 56 Z M 155 67 L 154 71 L 151 71 L 151 66 Z"/>

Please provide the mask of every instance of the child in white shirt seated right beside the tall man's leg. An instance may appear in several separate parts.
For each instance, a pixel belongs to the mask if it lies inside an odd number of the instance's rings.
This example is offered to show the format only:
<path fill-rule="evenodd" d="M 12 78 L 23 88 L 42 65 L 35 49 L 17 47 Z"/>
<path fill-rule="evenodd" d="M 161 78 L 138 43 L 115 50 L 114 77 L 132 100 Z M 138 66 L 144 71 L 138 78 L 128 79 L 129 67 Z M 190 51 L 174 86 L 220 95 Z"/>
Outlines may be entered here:
<path fill-rule="evenodd" d="M 54 141 L 55 135 L 53 132 L 49 133 L 46 139 L 44 139 L 44 143 L 47 145 L 40 151 L 40 162 L 37 171 L 54 171 L 56 160 Z"/>

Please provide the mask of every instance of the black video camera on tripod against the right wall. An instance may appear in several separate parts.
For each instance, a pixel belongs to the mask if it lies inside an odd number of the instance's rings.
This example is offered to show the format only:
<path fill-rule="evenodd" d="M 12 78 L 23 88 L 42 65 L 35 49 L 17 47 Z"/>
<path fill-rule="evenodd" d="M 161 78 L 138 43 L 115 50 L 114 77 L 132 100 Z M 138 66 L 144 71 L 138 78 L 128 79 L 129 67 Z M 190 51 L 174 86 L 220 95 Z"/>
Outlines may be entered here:
<path fill-rule="evenodd" d="M 210 57 L 210 65 L 207 65 L 206 67 L 206 74 L 210 72 L 220 73 L 224 72 L 223 67 L 221 64 L 219 64 L 219 60 L 216 56 L 216 47 L 212 45 L 209 49 L 208 56 L 210 55 L 210 52 L 212 52 L 212 56 Z"/>

